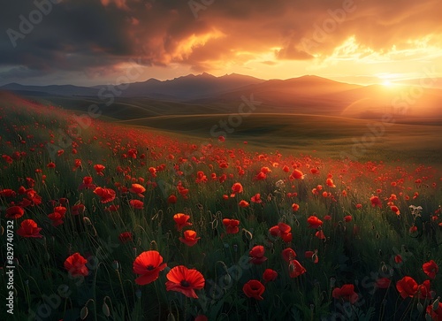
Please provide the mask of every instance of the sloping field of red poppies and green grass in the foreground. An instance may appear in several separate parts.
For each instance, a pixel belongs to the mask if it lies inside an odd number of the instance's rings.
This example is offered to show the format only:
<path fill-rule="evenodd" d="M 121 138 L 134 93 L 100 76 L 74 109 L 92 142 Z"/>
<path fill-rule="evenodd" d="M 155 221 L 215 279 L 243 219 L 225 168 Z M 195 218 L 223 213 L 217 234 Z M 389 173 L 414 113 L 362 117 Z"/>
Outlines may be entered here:
<path fill-rule="evenodd" d="M 437 166 L 8 99 L 2 320 L 442 320 Z"/>

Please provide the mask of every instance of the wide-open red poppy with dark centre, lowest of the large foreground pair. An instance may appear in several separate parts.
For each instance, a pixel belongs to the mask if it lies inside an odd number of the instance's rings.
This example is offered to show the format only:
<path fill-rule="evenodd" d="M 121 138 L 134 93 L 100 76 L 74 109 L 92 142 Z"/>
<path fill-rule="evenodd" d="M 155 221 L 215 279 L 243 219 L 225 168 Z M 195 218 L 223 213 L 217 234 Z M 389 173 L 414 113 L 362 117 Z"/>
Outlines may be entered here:
<path fill-rule="evenodd" d="M 204 287 L 205 279 L 200 271 L 187 269 L 184 265 L 178 265 L 167 273 L 166 290 L 177 291 L 189 298 L 197 299 L 198 296 L 194 290 L 200 290 Z"/>

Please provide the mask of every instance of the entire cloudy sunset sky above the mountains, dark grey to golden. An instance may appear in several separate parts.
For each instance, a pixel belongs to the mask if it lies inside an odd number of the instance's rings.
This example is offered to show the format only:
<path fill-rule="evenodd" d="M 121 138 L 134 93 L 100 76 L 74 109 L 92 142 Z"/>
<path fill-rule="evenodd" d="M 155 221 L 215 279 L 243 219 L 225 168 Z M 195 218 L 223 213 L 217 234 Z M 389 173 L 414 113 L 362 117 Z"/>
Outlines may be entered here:
<path fill-rule="evenodd" d="M 203 72 L 359 84 L 442 77 L 441 20 L 440 0 L 7 1 L 0 86 Z"/>

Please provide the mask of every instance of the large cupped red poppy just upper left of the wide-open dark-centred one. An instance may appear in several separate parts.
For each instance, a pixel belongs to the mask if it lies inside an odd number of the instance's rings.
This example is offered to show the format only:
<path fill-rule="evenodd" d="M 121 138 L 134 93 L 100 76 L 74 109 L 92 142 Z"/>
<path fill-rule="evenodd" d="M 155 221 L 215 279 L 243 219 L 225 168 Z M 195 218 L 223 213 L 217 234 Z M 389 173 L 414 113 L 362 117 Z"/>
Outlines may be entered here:
<path fill-rule="evenodd" d="M 163 263 L 163 256 L 160 256 L 158 251 L 142 252 L 133 261 L 133 273 L 140 275 L 135 279 L 135 283 L 144 286 L 155 281 L 166 266 L 167 264 Z"/>

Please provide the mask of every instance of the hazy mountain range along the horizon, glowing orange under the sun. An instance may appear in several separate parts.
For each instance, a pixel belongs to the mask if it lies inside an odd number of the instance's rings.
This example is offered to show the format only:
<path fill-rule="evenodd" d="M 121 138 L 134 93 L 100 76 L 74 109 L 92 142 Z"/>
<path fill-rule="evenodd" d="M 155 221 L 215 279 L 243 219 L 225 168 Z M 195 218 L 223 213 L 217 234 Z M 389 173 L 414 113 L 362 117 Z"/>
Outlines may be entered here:
<path fill-rule="evenodd" d="M 441 79 L 402 80 L 392 86 L 362 86 L 306 75 L 288 80 L 262 80 L 237 73 L 215 77 L 189 74 L 173 80 L 149 79 L 119 86 L 72 85 L 25 86 L 11 83 L 0 87 L 24 96 L 98 98 L 145 98 L 149 100 L 210 105 L 220 109 L 239 106 L 244 97 L 260 102 L 260 111 L 298 112 L 374 118 L 379 114 L 441 118 Z M 430 88 L 422 84 L 431 85 Z M 184 105 L 183 105 L 184 107 Z"/>

